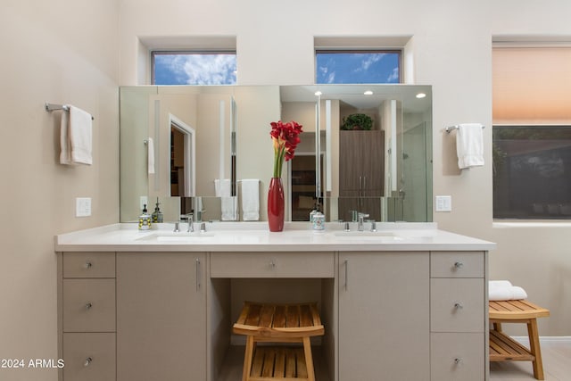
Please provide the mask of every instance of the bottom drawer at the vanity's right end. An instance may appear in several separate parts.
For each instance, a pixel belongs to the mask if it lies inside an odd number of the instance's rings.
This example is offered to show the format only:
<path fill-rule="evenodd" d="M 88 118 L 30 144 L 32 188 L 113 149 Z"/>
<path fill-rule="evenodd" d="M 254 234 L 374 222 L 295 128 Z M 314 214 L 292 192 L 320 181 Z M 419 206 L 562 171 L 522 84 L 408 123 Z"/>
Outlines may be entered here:
<path fill-rule="evenodd" d="M 485 376 L 484 334 L 438 333 L 430 336 L 430 379 L 482 381 Z"/>

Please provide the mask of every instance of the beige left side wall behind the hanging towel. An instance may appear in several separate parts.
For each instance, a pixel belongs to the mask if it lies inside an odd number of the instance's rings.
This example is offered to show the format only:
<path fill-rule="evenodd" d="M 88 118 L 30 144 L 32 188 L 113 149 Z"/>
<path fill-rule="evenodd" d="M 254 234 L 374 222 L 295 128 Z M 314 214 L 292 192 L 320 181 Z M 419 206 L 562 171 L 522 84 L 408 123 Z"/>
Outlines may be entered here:
<path fill-rule="evenodd" d="M 119 219 L 118 3 L 0 5 L 0 358 L 57 359 L 54 235 Z M 94 164 L 58 164 L 60 112 L 94 115 Z M 91 217 L 75 198 L 91 197 Z M 0 369 L 2 380 L 56 380 L 54 369 Z"/>

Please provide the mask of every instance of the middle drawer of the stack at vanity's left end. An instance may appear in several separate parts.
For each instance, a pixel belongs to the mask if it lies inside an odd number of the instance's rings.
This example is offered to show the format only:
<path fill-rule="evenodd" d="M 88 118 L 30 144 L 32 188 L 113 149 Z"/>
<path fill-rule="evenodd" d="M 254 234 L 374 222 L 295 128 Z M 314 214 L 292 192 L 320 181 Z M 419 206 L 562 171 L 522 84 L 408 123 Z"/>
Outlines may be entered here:
<path fill-rule="evenodd" d="M 115 331 L 115 279 L 63 279 L 63 332 Z"/>

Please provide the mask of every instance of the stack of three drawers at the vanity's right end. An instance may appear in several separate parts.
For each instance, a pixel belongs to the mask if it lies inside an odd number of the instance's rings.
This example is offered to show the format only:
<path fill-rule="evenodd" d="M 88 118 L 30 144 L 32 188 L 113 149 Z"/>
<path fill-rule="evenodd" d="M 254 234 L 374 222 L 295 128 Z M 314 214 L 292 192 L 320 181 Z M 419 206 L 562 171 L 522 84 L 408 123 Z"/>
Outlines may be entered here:
<path fill-rule="evenodd" d="M 430 255 L 431 379 L 487 379 L 485 255 Z"/>

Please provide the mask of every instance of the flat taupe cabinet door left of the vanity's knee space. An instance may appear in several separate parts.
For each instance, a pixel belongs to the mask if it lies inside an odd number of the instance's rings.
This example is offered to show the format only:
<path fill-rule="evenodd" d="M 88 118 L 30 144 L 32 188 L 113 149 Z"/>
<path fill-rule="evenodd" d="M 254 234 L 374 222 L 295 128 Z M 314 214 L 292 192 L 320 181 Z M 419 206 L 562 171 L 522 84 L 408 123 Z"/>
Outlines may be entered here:
<path fill-rule="evenodd" d="M 204 253 L 118 253 L 117 379 L 206 379 Z"/>

